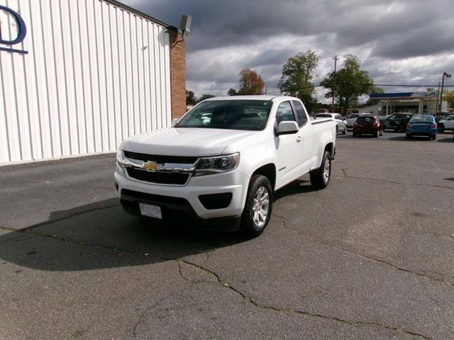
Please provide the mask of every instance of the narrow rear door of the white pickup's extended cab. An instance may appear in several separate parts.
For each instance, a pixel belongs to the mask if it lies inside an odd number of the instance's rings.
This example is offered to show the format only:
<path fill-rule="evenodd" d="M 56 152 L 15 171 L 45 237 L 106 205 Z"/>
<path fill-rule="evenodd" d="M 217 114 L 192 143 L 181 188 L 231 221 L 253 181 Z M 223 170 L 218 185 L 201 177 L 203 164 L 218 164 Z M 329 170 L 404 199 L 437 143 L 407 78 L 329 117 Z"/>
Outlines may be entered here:
<path fill-rule="evenodd" d="M 309 123 L 309 115 L 307 115 L 303 104 L 300 101 L 292 101 L 294 112 L 297 114 L 297 123 L 299 126 L 300 137 L 298 150 L 301 152 L 301 174 L 306 174 L 311 169 L 312 157 L 314 157 L 314 135 L 312 125 Z"/>

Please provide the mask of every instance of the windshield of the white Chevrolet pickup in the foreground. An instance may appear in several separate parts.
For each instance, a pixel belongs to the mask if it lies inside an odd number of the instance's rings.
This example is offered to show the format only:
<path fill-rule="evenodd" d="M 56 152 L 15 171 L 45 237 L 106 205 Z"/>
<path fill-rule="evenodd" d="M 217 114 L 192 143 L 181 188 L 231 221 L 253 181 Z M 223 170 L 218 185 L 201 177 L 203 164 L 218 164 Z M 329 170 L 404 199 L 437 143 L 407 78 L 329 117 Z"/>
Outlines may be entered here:
<path fill-rule="evenodd" d="M 196 106 L 175 128 L 263 130 L 272 101 L 206 101 Z"/>

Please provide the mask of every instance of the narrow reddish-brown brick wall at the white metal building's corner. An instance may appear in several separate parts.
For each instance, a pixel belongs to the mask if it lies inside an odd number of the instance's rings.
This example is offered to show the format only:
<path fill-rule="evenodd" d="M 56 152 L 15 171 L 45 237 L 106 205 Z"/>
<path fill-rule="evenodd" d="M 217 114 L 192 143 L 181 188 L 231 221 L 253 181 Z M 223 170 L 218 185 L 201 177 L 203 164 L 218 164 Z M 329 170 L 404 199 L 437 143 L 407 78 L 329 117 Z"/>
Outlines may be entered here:
<path fill-rule="evenodd" d="M 186 113 L 186 41 L 181 33 L 170 31 L 170 86 L 172 119 Z"/>

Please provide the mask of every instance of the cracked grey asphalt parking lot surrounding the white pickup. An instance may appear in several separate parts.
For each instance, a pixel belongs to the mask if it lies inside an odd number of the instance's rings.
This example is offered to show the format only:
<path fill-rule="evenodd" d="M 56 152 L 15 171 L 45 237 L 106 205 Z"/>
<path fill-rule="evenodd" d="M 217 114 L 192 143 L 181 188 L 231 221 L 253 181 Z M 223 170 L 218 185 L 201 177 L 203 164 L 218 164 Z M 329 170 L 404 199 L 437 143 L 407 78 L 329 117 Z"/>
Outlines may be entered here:
<path fill-rule="evenodd" d="M 252 240 L 125 215 L 113 154 L 0 168 L 0 339 L 452 339 L 452 133 L 337 149 Z"/>

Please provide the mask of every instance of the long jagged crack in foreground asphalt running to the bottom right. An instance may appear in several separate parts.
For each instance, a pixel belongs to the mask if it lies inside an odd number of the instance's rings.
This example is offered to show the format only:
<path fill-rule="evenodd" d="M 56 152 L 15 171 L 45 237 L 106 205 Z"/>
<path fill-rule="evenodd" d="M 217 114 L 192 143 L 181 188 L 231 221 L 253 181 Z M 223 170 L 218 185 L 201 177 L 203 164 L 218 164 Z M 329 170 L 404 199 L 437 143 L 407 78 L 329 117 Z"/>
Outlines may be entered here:
<path fill-rule="evenodd" d="M 432 339 L 430 336 L 416 333 L 416 331 L 410 331 L 408 329 L 399 328 L 399 327 L 391 327 L 391 326 L 388 326 L 387 324 L 380 324 L 378 322 L 352 321 L 352 320 L 348 320 L 348 319 L 341 319 L 340 317 L 332 317 L 329 315 L 308 312 L 308 311 L 304 311 L 304 310 L 295 310 L 292 308 L 279 308 L 279 307 L 274 307 L 272 305 L 262 305 L 260 302 L 254 300 L 253 297 L 250 297 L 249 295 L 246 295 L 245 293 L 241 292 L 240 290 L 233 287 L 232 285 L 229 285 L 228 283 L 223 282 L 221 280 L 221 278 L 219 277 L 219 275 L 216 272 L 211 271 L 209 268 L 206 268 L 205 266 L 201 266 L 198 263 L 194 263 L 194 262 L 184 260 L 184 259 L 179 259 L 177 261 L 186 263 L 188 266 L 193 266 L 194 268 L 198 268 L 201 271 L 211 274 L 212 276 L 214 276 L 216 278 L 216 280 L 218 281 L 218 284 L 222 285 L 225 288 L 228 288 L 229 290 L 232 290 L 234 293 L 240 295 L 240 297 L 242 297 L 245 301 L 249 302 L 251 305 L 253 305 L 254 307 L 256 307 L 258 309 L 272 310 L 272 311 L 280 312 L 283 314 L 301 314 L 301 315 L 305 315 L 307 317 L 319 317 L 319 318 L 330 320 L 330 321 L 341 322 L 343 324 L 350 324 L 351 326 L 381 327 L 381 328 L 389 329 L 392 331 L 403 332 L 404 334 L 409 334 L 411 336 L 419 336 L 422 339 L 426 339 L 426 340 Z M 205 283 L 212 283 L 212 282 L 208 281 Z"/>

